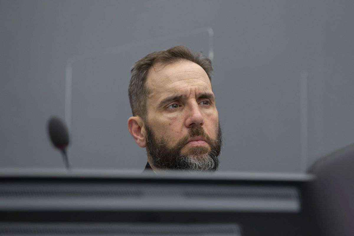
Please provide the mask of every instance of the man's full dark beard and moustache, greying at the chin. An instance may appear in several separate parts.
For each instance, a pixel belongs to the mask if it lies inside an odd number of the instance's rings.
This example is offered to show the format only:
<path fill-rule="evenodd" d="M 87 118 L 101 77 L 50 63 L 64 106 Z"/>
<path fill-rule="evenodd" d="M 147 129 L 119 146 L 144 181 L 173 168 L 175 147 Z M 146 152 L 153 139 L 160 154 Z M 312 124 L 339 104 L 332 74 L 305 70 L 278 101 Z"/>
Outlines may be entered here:
<path fill-rule="evenodd" d="M 204 128 L 198 126 L 191 128 L 188 135 L 171 148 L 168 146 L 169 140 L 164 137 L 157 139 L 148 125 L 145 126 L 145 130 L 146 150 L 151 166 L 164 170 L 175 169 L 191 172 L 216 171 L 218 169 L 218 156 L 222 147 L 220 124 L 218 125 L 216 140 L 211 139 Z M 189 138 L 195 136 L 205 137 L 210 145 L 210 150 L 206 146 L 192 146 L 188 148 L 188 154 L 182 154 L 181 150 L 184 144 Z"/>

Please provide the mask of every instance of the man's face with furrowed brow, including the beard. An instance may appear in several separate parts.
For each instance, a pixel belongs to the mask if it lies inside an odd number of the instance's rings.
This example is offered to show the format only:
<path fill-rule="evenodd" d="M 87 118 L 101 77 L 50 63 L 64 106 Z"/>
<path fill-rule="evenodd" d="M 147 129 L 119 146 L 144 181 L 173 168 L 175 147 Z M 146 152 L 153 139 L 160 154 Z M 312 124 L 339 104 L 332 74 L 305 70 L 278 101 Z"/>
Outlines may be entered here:
<path fill-rule="evenodd" d="M 156 168 L 216 170 L 221 130 L 209 77 L 198 64 L 178 61 L 150 69 L 145 135 Z"/>

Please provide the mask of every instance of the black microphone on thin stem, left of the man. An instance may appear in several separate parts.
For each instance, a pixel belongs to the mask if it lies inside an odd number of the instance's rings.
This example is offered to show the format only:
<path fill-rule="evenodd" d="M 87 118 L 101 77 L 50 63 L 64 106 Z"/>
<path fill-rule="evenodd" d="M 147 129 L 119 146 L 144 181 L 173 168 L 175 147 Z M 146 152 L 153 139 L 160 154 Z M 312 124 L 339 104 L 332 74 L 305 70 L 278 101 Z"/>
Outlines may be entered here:
<path fill-rule="evenodd" d="M 69 132 L 65 123 L 58 117 L 51 117 L 48 121 L 48 133 L 52 144 L 63 154 L 65 168 L 70 169 L 66 148 L 69 145 Z"/>

